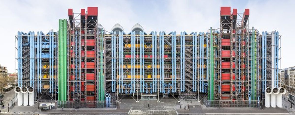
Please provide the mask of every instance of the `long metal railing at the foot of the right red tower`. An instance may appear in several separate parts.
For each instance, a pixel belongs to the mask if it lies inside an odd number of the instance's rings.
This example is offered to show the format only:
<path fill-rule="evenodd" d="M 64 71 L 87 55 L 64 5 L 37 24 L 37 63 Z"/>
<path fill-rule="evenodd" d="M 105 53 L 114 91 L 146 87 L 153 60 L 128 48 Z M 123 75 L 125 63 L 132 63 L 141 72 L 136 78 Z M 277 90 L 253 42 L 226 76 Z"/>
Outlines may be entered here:
<path fill-rule="evenodd" d="M 213 100 L 208 101 L 207 99 L 202 100 L 203 104 L 206 107 L 213 107 L 213 108 L 258 108 L 259 101 L 258 100 Z"/>

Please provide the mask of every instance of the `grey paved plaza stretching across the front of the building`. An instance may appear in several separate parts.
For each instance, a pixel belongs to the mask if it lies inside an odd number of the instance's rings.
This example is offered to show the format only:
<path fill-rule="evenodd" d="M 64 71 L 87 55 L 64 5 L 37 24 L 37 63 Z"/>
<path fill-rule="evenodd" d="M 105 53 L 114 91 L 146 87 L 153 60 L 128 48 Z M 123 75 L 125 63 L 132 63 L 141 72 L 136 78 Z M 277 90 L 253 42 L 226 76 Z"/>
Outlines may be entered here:
<path fill-rule="evenodd" d="M 10 92 L 11 93 L 11 92 Z M 14 97 L 14 91 L 12 94 L 7 93 Z M 5 95 L 4 95 L 5 98 Z M 4 103 L 10 101 L 6 97 Z M 188 106 L 189 105 L 189 106 Z M 189 110 L 188 110 L 189 108 Z M 294 106 L 295 108 L 295 106 Z M 188 99 L 178 102 L 174 98 L 165 98 L 158 102 L 157 100 L 138 100 L 135 101 L 132 98 L 124 98 L 119 104 L 118 108 L 113 109 L 52 109 L 47 111 L 41 111 L 38 109 L 38 105 L 35 106 L 15 106 L 10 110 L 10 113 L 6 114 L 294 114 L 295 109 L 290 109 L 290 102 L 283 98 L 283 108 L 266 108 L 264 110 L 260 108 L 207 108 L 201 105 L 197 100 Z"/>

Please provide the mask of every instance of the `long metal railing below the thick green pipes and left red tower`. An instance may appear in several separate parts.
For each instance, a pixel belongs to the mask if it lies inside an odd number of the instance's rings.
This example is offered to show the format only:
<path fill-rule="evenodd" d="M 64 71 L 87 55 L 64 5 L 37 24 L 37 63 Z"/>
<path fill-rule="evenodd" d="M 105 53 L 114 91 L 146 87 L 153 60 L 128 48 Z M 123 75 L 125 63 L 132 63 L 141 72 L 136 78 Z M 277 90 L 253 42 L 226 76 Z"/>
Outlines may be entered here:
<path fill-rule="evenodd" d="M 117 108 L 116 101 L 110 101 L 107 104 L 106 101 L 58 101 L 58 108 L 75 108 L 75 109 L 83 109 L 83 108 Z"/>

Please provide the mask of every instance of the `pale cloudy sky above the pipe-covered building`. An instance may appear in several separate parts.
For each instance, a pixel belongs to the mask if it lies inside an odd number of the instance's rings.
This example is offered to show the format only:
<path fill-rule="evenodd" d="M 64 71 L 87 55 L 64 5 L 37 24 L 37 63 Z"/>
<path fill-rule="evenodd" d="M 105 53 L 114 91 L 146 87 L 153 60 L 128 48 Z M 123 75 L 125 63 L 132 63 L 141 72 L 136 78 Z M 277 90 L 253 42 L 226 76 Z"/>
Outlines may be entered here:
<path fill-rule="evenodd" d="M 58 19 L 68 19 L 68 9 L 98 7 L 98 22 L 107 30 L 119 23 L 125 32 L 139 23 L 144 31 L 207 31 L 219 28 L 220 6 L 250 9 L 249 28 L 279 31 L 281 66 L 295 66 L 295 1 L 294 0 L 1 0 L 0 64 L 9 73 L 16 71 L 15 35 L 18 31 L 58 31 Z"/>

